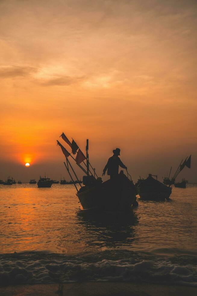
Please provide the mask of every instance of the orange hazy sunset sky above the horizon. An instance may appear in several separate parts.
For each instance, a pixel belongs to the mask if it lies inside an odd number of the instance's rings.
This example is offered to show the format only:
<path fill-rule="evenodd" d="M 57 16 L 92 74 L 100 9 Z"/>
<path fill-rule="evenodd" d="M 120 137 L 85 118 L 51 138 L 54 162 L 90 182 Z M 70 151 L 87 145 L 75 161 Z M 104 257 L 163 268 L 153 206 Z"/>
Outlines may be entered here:
<path fill-rule="evenodd" d="M 196 12 L 192 0 L 1 0 L 0 179 L 70 179 L 64 131 L 83 152 L 89 139 L 98 175 L 118 147 L 133 180 L 192 154 L 179 179 L 197 182 Z"/>

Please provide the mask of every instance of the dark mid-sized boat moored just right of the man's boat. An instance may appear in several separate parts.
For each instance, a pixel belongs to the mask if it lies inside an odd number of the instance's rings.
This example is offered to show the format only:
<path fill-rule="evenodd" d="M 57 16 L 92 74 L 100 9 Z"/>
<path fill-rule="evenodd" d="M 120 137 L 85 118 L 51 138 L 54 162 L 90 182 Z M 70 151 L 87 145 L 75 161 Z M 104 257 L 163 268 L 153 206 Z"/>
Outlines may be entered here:
<path fill-rule="evenodd" d="M 155 176 L 154 179 L 152 176 Z M 164 201 L 169 200 L 172 188 L 157 180 L 157 175 L 149 174 L 138 186 L 138 193 L 142 200 Z"/>

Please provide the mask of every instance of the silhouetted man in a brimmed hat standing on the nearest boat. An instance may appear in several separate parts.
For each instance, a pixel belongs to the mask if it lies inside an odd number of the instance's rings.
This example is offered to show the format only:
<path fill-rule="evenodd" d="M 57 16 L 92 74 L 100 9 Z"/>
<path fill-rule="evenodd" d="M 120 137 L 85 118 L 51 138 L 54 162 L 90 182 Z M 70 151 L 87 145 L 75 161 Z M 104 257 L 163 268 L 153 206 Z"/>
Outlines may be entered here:
<path fill-rule="evenodd" d="M 118 175 L 119 166 L 123 169 L 127 169 L 127 167 L 121 162 L 120 158 L 120 149 L 116 148 L 113 150 L 114 155 L 108 159 L 108 162 L 103 170 L 102 176 L 105 175 L 106 170 L 108 170 L 108 175 L 110 175 L 110 179 L 114 178 Z"/>

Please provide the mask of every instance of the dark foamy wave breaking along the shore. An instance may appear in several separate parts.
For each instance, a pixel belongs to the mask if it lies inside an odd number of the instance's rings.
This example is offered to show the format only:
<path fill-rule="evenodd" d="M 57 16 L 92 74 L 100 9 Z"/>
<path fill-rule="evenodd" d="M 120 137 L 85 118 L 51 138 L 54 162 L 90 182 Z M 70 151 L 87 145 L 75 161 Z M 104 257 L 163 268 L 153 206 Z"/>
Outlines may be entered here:
<path fill-rule="evenodd" d="M 75 256 L 46 252 L 4 254 L 0 255 L 0 285 L 120 281 L 197 287 L 196 263 L 195 256 L 165 259 L 124 250 Z"/>

